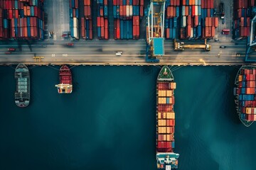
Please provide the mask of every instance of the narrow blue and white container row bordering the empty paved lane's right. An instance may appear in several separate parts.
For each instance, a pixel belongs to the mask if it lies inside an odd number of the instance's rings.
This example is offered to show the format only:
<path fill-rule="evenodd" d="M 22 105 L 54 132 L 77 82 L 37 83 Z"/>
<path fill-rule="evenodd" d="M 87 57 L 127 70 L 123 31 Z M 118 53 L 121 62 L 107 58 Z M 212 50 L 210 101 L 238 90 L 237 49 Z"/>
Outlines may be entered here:
<path fill-rule="evenodd" d="M 70 36 L 79 40 L 78 0 L 70 0 Z"/>

